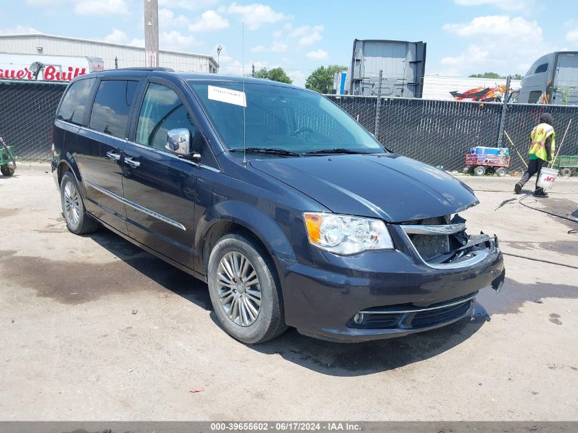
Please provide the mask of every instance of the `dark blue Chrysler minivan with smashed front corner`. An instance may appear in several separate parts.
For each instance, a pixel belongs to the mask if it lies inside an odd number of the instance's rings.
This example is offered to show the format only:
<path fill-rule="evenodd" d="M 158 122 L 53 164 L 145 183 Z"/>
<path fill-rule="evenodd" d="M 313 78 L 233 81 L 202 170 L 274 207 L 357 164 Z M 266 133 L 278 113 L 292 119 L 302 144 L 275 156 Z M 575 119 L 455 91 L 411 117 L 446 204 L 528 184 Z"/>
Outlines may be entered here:
<path fill-rule="evenodd" d="M 83 75 L 57 109 L 52 170 L 68 230 L 105 226 L 206 281 L 245 343 L 287 326 L 334 341 L 430 330 L 503 283 L 497 238 L 458 215 L 478 202 L 469 187 L 302 88 Z"/>

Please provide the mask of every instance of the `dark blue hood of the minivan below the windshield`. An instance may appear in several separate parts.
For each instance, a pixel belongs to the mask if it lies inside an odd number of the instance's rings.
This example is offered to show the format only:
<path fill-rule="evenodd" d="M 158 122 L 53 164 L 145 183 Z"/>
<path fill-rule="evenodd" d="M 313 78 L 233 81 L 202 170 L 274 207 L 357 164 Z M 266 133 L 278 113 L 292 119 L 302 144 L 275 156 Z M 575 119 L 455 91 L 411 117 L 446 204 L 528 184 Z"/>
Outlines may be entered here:
<path fill-rule="evenodd" d="M 478 203 L 472 189 L 453 176 L 395 154 L 263 157 L 250 164 L 334 213 L 402 222 Z"/>

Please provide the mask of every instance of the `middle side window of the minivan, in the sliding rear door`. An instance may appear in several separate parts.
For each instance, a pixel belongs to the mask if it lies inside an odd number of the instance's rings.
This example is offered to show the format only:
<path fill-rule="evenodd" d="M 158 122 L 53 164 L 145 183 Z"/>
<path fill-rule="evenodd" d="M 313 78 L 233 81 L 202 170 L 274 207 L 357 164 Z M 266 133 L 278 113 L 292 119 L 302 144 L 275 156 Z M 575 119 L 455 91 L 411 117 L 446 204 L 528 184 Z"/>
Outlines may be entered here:
<path fill-rule="evenodd" d="M 135 97 L 138 81 L 101 81 L 90 113 L 88 127 L 94 131 L 124 138 L 129 111 Z"/>

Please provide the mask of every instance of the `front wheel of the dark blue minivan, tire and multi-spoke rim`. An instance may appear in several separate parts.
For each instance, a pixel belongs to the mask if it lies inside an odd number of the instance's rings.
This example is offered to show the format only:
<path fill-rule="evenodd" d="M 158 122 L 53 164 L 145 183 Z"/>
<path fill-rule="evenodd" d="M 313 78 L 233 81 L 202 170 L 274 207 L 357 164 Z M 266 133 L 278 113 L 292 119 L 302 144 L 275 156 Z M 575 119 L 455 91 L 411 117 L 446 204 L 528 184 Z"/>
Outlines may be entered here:
<path fill-rule="evenodd" d="M 211 250 L 207 279 L 215 315 L 233 338 L 257 344 L 287 329 L 273 263 L 250 237 L 222 237 Z"/>

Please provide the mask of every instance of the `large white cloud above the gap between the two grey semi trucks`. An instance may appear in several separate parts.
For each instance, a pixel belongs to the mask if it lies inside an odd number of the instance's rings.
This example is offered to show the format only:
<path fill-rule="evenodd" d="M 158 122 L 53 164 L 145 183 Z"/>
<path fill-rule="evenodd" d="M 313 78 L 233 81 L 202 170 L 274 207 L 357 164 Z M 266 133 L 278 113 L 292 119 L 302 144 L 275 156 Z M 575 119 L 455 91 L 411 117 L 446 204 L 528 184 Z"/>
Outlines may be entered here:
<path fill-rule="evenodd" d="M 446 24 L 443 30 L 471 43 L 456 56 L 443 57 L 447 75 L 468 75 L 493 71 L 501 74 L 525 73 L 540 55 L 555 51 L 544 42 L 542 28 L 536 21 L 516 16 L 477 16 L 469 23 Z"/>

